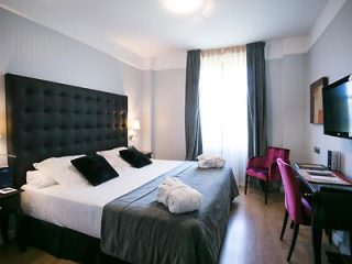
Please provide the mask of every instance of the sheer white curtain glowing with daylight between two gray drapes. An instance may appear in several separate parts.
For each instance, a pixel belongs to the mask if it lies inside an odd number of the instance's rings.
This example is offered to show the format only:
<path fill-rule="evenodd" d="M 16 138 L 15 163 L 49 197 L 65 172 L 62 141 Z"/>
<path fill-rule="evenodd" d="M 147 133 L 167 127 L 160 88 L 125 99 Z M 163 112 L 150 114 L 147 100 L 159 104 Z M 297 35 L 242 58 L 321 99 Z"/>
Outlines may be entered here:
<path fill-rule="evenodd" d="M 245 46 L 201 52 L 199 105 L 204 153 L 221 155 L 243 185 L 248 161 Z"/>

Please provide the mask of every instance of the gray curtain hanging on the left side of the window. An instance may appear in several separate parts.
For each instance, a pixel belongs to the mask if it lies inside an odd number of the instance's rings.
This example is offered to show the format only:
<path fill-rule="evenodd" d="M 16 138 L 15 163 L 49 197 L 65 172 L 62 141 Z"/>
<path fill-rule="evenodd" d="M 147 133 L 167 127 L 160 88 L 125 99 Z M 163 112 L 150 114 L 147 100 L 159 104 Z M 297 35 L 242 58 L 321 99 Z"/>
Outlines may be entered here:
<path fill-rule="evenodd" d="M 202 153 L 198 94 L 199 70 L 200 51 L 188 51 L 185 106 L 186 161 L 196 161 L 197 156 Z"/>

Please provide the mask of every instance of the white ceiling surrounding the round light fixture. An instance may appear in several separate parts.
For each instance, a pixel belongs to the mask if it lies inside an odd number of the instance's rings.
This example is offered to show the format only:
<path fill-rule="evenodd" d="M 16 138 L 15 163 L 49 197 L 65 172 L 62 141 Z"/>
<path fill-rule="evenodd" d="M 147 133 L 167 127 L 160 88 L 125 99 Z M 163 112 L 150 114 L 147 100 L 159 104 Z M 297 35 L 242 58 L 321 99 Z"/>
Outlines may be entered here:
<path fill-rule="evenodd" d="M 0 0 L 0 7 L 133 61 L 307 35 L 328 2 L 206 0 L 190 15 L 170 13 L 162 0 Z"/>

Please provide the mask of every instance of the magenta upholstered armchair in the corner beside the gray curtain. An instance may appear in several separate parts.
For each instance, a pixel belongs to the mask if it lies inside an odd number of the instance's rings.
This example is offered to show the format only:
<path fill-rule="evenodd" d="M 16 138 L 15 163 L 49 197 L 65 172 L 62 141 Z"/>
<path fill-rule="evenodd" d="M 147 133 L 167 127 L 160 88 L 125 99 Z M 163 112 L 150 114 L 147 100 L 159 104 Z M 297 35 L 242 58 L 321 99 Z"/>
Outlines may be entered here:
<path fill-rule="evenodd" d="M 265 156 L 251 157 L 249 160 L 249 163 L 245 169 L 245 189 L 244 189 L 245 195 L 246 195 L 246 189 L 249 185 L 249 177 L 255 177 L 265 183 L 265 187 L 264 187 L 265 205 L 267 204 L 268 183 L 272 180 L 282 179 L 277 164 L 276 164 L 276 160 L 278 157 L 288 162 L 289 150 L 270 146 L 267 147 Z"/>

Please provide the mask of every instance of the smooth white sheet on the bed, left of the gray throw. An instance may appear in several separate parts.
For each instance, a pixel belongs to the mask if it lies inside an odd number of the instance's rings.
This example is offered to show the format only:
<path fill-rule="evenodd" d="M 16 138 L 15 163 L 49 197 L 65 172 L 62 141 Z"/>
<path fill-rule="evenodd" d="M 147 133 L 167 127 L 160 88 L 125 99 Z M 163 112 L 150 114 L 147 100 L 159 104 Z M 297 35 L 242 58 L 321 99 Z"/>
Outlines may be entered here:
<path fill-rule="evenodd" d="M 99 186 L 45 188 L 22 186 L 21 204 L 28 216 L 100 238 L 102 208 L 109 201 L 130 193 L 183 162 L 153 160 L 142 167 L 114 167 L 119 177 Z"/>

